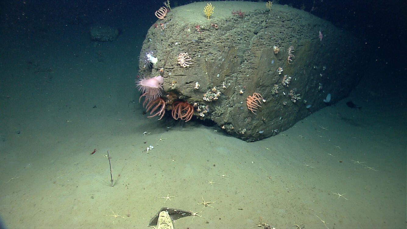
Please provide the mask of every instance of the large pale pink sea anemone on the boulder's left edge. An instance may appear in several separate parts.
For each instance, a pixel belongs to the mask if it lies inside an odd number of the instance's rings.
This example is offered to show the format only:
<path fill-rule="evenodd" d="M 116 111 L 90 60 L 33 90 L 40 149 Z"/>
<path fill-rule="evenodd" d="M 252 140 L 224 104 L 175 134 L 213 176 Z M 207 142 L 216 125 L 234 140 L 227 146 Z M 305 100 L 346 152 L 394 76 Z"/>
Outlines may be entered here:
<path fill-rule="evenodd" d="M 143 93 L 140 96 L 140 99 L 141 97 L 145 96 L 146 101 L 153 101 L 161 96 L 164 77 L 155 76 L 150 79 L 146 79 L 145 77 L 140 76 L 138 77 L 139 78 L 136 80 L 136 87 L 141 93 Z"/>

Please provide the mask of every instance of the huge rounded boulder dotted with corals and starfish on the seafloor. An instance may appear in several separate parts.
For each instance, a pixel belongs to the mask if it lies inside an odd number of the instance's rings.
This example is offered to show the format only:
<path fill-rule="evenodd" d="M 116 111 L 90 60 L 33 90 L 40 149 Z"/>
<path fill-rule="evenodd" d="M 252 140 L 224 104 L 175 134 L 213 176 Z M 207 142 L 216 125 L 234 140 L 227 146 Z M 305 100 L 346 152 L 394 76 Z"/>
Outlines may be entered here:
<path fill-rule="evenodd" d="M 361 48 L 350 33 L 288 6 L 235 4 L 214 2 L 209 20 L 206 2 L 177 7 L 149 29 L 139 74 L 164 77 L 166 109 L 186 101 L 197 118 L 256 141 L 336 103 L 359 81 Z M 144 63 L 149 51 L 158 58 L 151 66 Z M 181 53 L 190 57 L 186 68 Z"/>

